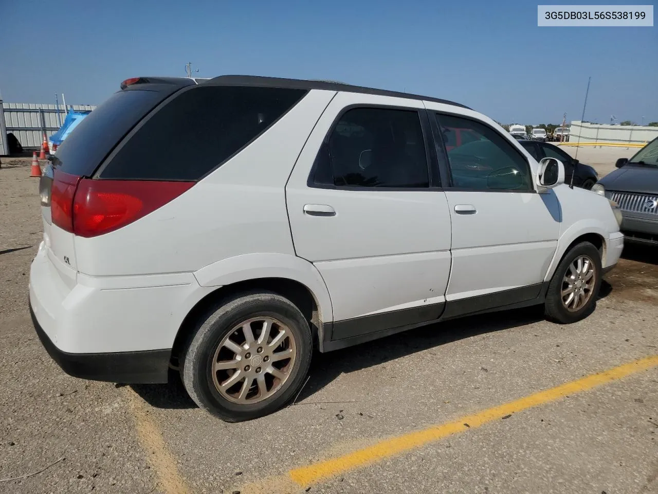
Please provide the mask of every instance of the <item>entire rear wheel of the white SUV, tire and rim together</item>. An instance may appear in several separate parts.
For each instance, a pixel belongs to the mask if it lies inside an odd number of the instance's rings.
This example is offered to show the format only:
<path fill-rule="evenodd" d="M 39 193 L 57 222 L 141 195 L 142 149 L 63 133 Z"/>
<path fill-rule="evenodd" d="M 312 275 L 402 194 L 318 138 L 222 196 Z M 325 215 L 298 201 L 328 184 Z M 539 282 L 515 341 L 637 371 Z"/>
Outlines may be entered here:
<path fill-rule="evenodd" d="M 200 317 L 182 352 L 181 377 L 200 408 L 226 422 L 251 420 L 299 392 L 312 350 L 309 323 L 290 300 L 238 294 Z"/>

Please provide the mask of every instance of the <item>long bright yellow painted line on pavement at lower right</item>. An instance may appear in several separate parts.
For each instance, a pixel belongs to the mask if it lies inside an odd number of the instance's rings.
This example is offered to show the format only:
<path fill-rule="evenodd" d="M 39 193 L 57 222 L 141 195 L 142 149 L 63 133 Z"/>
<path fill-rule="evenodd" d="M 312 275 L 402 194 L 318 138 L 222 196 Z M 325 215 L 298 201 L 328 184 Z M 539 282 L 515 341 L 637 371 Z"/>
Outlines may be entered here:
<path fill-rule="evenodd" d="M 603 372 L 582 377 L 582 379 L 577 379 L 576 381 L 545 389 L 539 393 L 534 393 L 534 395 L 529 395 L 509 403 L 482 410 L 481 412 L 462 417 L 453 422 L 433 425 L 432 427 L 420 431 L 386 439 L 376 445 L 358 449 L 352 453 L 343 454 L 336 458 L 330 458 L 308 466 L 294 468 L 288 472 L 288 477 L 297 484 L 297 486 L 306 487 L 307 485 L 326 480 L 327 478 L 336 476 L 347 470 L 353 470 L 354 468 L 372 464 L 384 460 L 384 458 L 395 456 L 396 454 L 405 453 L 406 451 L 421 447 L 433 441 L 438 441 L 449 435 L 480 427 L 480 425 L 487 424 L 493 420 L 498 420 L 509 414 L 549 403 L 568 395 L 582 393 L 583 391 L 588 391 L 588 389 L 616 381 L 617 379 L 622 379 L 627 375 L 656 366 L 658 366 L 658 355 L 642 358 L 635 362 L 630 362 L 629 364 L 624 364 Z"/>

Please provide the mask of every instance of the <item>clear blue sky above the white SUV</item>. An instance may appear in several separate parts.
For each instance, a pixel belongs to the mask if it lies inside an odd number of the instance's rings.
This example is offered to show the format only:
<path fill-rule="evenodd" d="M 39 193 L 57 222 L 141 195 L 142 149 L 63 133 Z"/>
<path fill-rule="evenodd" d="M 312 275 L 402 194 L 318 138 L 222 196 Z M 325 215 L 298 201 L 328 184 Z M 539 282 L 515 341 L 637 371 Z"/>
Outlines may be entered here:
<path fill-rule="evenodd" d="M 187 4 L 0 0 L 3 99 L 97 104 L 191 61 L 199 77 L 341 80 L 524 124 L 579 120 L 592 76 L 586 120 L 658 121 L 658 27 L 539 28 L 526 0 Z"/>

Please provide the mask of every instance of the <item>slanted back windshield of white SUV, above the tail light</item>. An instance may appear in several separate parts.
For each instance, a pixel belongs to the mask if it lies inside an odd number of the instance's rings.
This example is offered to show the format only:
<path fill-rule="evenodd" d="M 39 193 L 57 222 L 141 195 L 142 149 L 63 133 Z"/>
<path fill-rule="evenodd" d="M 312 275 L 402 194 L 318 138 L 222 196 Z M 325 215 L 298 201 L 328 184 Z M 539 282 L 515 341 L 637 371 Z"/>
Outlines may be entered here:
<path fill-rule="evenodd" d="M 114 93 L 57 148 L 55 166 L 71 175 L 91 176 L 116 143 L 169 94 L 134 90 Z"/>

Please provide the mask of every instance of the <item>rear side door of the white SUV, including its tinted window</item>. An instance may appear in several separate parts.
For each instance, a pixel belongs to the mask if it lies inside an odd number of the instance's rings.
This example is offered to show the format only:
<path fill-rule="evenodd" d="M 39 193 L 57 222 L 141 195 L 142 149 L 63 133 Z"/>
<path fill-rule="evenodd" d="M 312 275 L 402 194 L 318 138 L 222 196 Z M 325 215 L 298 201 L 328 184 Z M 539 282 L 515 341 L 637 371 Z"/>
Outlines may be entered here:
<path fill-rule="evenodd" d="M 450 213 L 430 134 L 422 101 L 338 93 L 297 159 L 286 186 L 293 244 L 326 283 L 334 340 L 442 313 Z"/>

